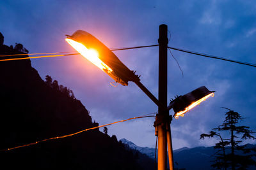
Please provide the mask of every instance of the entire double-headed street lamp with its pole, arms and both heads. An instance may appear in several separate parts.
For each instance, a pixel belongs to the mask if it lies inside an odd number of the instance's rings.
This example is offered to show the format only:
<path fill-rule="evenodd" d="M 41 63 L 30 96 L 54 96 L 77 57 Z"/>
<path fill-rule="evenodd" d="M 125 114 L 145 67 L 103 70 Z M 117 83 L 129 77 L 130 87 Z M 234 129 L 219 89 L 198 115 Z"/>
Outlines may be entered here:
<path fill-rule="evenodd" d="M 159 92 L 158 99 L 140 82 L 140 76 L 126 67 L 116 55 L 109 50 L 99 39 L 88 32 L 78 30 L 66 38 L 68 44 L 90 60 L 95 66 L 107 73 L 113 80 L 122 85 L 128 85 L 128 81 L 133 81 L 145 94 L 158 106 L 158 114 L 154 127 L 158 136 L 158 170 L 166 169 L 167 147 L 170 169 L 173 169 L 172 136 L 170 123 L 172 117 L 169 110 L 173 108 L 174 117 L 183 116 L 186 111 L 212 96 L 213 92 L 200 87 L 192 92 L 177 97 L 167 106 L 167 25 L 159 26 Z"/>

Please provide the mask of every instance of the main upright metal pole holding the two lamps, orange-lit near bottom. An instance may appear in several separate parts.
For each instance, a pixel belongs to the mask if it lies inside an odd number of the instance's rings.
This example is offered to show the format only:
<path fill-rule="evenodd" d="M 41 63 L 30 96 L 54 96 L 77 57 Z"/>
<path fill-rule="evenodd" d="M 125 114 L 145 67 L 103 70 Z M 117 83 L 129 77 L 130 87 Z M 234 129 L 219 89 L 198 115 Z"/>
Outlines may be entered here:
<path fill-rule="evenodd" d="M 158 170 L 166 170 L 167 146 L 166 146 L 166 118 L 168 118 L 167 110 L 167 25 L 159 26 L 159 84 L 158 84 L 158 100 L 163 104 L 165 109 L 158 107 Z"/>

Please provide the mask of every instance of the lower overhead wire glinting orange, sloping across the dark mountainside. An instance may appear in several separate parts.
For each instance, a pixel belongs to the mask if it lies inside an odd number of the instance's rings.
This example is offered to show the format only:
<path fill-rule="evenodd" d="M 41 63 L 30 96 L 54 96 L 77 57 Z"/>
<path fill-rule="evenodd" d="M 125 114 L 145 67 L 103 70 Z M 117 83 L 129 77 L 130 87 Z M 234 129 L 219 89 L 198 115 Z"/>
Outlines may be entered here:
<path fill-rule="evenodd" d="M 155 114 L 155 113 L 150 113 L 151 115 L 152 114 Z M 4 152 L 4 151 L 10 151 L 10 150 L 15 150 L 17 148 L 22 148 L 22 147 L 26 147 L 26 146 L 32 146 L 32 145 L 36 145 L 38 143 L 42 143 L 44 141 L 50 141 L 50 140 L 54 140 L 54 139 L 61 139 L 61 138 L 67 138 L 67 137 L 70 137 L 70 136 L 74 136 L 76 134 L 80 134 L 81 132 L 85 132 L 85 131 L 90 131 L 90 130 L 93 130 L 93 129 L 98 129 L 100 127 L 105 127 L 105 126 L 108 126 L 108 125 L 113 125 L 113 124 L 117 124 L 117 123 L 120 123 L 120 122 L 126 122 L 128 120 L 133 120 L 133 119 L 137 119 L 137 118 L 147 118 L 147 117 L 155 117 L 155 116 L 150 116 L 150 115 L 145 115 L 145 116 L 141 116 L 141 117 L 133 117 L 133 118 L 127 118 L 125 120 L 119 120 L 117 122 L 113 122 L 113 123 L 110 123 L 110 124 L 104 124 L 104 125 L 99 125 L 97 127 L 91 127 L 91 128 L 88 128 L 88 129 L 84 129 L 82 131 L 78 131 L 78 132 L 74 132 L 72 134 L 67 134 L 67 135 L 63 135 L 63 136 L 56 136 L 56 137 L 53 137 L 53 138 L 47 138 L 47 139 L 42 139 L 40 141 L 36 141 L 34 143 L 29 143 L 29 144 L 26 144 L 26 145 L 20 145 L 20 146 L 15 146 L 13 148 L 7 148 L 7 149 L 3 149 L 3 150 L 0 150 L 0 152 Z"/>

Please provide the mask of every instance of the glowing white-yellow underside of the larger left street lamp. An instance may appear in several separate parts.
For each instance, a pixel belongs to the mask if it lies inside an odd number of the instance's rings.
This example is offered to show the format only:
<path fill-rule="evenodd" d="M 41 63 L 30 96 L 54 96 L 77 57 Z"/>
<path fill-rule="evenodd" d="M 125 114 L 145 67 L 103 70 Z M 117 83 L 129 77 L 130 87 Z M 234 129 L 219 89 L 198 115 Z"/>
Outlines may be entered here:
<path fill-rule="evenodd" d="M 74 41 L 72 39 L 66 38 L 65 39 L 69 45 L 71 45 L 77 52 L 81 53 L 84 58 L 90 60 L 95 66 L 99 67 L 105 72 L 111 73 L 113 70 L 107 66 L 102 60 L 99 59 L 99 54 L 96 50 L 88 49 L 86 46 L 84 46 L 82 43 L 78 43 L 77 41 Z"/>

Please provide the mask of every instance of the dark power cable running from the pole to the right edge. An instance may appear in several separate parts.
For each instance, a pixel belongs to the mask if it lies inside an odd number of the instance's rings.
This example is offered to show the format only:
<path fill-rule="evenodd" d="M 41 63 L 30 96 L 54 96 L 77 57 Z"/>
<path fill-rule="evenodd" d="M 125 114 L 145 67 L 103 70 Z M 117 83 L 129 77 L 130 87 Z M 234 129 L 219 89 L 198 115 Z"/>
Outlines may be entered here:
<path fill-rule="evenodd" d="M 227 59 L 227 58 L 224 58 L 224 57 L 217 57 L 217 56 L 209 55 L 209 54 L 205 54 L 205 53 L 191 52 L 191 51 L 188 51 L 188 50 L 182 50 L 180 48 L 174 48 L 174 47 L 171 47 L 171 46 L 168 46 L 168 48 L 173 49 L 173 50 L 177 50 L 177 51 L 180 51 L 180 52 L 186 52 L 186 53 L 191 53 L 191 54 L 195 54 L 195 55 L 200 55 L 200 56 L 203 56 L 203 57 L 209 57 L 209 58 L 212 58 L 212 59 L 225 60 L 225 61 L 229 61 L 229 62 L 235 62 L 237 64 L 243 64 L 243 65 L 246 65 L 246 66 L 256 67 L 256 64 L 249 63 L 249 62 L 230 60 L 230 59 Z"/>

